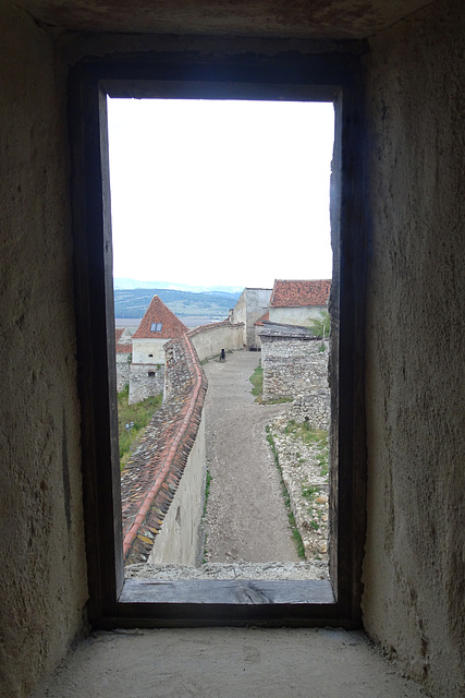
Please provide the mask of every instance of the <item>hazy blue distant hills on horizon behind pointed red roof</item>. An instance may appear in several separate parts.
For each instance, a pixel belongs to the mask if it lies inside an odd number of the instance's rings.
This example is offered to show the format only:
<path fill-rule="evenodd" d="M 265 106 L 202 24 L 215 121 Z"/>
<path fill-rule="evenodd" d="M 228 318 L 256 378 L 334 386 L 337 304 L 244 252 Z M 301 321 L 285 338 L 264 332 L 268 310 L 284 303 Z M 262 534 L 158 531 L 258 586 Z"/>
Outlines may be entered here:
<path fill-rule="evenodd" d="M 241 291 L 242 292 L 242 291 Z M 237 302 L 241 292 L 224 291 L 180 291 L 167 288 L 132 288 L 114 290 L 114 316 L 140 320 L 154 296 L 186 325 L 186 320 L 195 316 L 198 324 L 217 322 L 228 317 L 228 311 Z"/>

